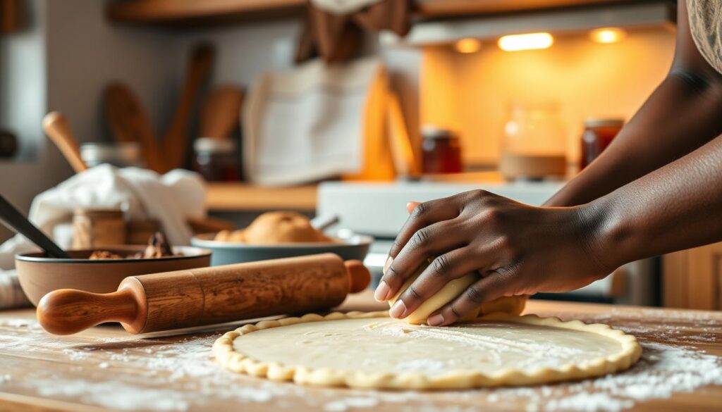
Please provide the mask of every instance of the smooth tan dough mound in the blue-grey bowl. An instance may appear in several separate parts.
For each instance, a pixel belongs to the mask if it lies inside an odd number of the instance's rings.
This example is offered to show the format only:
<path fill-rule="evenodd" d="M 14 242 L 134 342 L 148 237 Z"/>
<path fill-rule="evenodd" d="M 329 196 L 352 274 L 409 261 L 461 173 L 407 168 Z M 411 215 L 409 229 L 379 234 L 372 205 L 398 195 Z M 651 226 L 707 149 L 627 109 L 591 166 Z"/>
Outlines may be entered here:
<path fill-rule="evenodd" d="M 272 211 L 258 216 L 244 231 L 251 245 L 329 242 L 329 238 L 311 226 L 308 218 L 292 211 Z"/>

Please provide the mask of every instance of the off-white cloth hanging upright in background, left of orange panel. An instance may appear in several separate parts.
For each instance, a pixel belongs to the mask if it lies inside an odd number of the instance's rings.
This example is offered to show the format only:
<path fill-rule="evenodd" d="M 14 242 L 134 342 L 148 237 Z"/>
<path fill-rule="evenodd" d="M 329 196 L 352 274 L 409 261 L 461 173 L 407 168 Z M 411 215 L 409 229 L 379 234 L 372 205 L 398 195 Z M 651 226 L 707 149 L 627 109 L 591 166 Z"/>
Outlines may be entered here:
<path fill-rule="evenodd" d="M 243 163 L 258 185 L 292 185 L 359 172 L 363 121 L 378 58 L 310 61 L 265 73 L 243 105 Z"/>

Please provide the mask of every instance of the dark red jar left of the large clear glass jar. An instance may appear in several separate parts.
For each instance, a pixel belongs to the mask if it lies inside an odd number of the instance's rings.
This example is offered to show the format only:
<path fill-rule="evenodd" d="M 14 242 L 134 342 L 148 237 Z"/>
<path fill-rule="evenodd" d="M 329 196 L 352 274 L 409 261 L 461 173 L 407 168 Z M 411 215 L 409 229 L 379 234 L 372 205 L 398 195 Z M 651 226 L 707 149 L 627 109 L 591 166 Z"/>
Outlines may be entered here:
<path fill-rule="evenodd" d="M 422 128 L 424 173 L 461 173 L 461 141 L 456 133 L 436 126 Z"/>

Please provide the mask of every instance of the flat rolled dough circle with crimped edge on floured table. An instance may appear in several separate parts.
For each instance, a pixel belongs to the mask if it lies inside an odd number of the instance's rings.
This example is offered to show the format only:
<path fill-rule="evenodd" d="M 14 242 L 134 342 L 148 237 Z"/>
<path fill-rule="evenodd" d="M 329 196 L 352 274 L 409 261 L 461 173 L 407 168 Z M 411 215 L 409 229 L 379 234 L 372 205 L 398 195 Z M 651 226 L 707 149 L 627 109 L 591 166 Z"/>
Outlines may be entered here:
<path fill-rule="evenodd" d="M 531 385 L 619 372 L 634 336 L 607 325 L 495 313 L 474 323 L 409 325 L 386 312 L 266 320 L 214 343 L 233 372 L 303 385 L 461 389 Z"/>

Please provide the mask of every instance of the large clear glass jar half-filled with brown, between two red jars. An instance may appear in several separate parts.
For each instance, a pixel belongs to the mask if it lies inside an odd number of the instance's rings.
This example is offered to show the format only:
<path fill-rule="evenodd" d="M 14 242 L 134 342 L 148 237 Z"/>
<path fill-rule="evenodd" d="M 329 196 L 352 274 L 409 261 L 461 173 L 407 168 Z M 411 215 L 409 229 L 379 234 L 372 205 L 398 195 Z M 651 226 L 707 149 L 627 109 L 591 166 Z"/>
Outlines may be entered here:
<path fill-rule="evenodd" d="M 508 180 L 566 175 L 565 127 L 556 102 L 515 102 L 504 125 L 499 170 Z"/>

